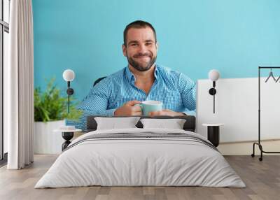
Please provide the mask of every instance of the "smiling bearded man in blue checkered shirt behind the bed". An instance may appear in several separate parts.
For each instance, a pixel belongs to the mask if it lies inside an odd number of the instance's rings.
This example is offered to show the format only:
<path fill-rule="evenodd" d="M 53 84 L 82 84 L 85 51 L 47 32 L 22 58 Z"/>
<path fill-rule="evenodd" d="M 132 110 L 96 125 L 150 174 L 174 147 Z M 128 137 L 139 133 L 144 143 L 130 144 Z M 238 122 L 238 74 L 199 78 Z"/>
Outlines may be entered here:
<path fill-rule="evenodd" d="M 157 52 L 157 37 L 151 24 L 128 24 L 123 44 L 128 66 L 92 87 L 78 106 L 84 113 L 76 127 L 85 129 L 88 115 L 141 115 L 140 106 L 134 105 L 145 100 L 163 103 L 164 110 L 151 112 L 151 116 L 195 115 L 195 83 L 183 73 L 155 64 Z"/>

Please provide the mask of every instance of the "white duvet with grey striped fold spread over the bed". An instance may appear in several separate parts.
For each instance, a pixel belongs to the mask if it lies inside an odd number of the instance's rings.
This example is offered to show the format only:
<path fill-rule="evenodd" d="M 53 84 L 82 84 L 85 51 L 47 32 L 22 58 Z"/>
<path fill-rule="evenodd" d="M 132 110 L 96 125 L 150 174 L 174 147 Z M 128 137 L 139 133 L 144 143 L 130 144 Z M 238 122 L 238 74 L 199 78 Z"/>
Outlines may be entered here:
<path fill-rule="evenodd" d="M 223 155 L 204 143 L 181 138 L 106 138 L 79 143 L 92 134 L 145 134 L 147 131 L 199 136 L 178 129 L 92 131 L 76 138 L 69 145 L 73 145 L 72 148 L 59 155 L 35 188 L 89 185 L 246 187 Z"/>

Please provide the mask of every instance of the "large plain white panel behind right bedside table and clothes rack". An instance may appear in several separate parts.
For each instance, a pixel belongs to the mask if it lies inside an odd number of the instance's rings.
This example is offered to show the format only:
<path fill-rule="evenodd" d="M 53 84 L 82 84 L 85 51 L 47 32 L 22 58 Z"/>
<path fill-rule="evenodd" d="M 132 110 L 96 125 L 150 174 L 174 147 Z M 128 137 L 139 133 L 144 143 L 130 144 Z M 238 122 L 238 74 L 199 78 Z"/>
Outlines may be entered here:
<path fill-rule="evenodd" d="M 268 74 L 268 73 L 267 73 Z M 261 138 L 280 138 L 280 83 L 261 78 Z M 273 81 L 273 82 L 272 82 Z M 219 79 L 216 113 L 210 80 L 197 80 L 197 133 L 207 136 L 202 123 L 224 123 L 221 142 L 258 139 L 258 78 Z"/>

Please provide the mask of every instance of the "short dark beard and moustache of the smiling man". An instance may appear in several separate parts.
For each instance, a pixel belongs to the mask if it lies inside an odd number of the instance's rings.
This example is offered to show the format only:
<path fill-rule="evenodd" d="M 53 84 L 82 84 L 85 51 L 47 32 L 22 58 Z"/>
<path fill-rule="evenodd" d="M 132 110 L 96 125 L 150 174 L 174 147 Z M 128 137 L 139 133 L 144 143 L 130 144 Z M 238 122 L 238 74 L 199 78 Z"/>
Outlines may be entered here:
<path fill-rule="evenodd" d="M 134 57 L 144 57 L 144 56 L 148 56 L 150 57 L 150 61 L 149 62 L 146 62 L 144 64 L 141 64 L 139 62 L 137 62 Z M 134 69 L 137 69 L 138 71 L 148 71 L 149 69 L 151 69 L 151 67 L 153 66 L 153 64 L 155 64 L 155 60 L 157 59 L 157 57 L 153 57 L 153 54 L 137 54 L 137 55 L 134 55 L 133 57 L 128 57 L 127 56 L 127 61 L 128 63 L 133 66 Z"/>

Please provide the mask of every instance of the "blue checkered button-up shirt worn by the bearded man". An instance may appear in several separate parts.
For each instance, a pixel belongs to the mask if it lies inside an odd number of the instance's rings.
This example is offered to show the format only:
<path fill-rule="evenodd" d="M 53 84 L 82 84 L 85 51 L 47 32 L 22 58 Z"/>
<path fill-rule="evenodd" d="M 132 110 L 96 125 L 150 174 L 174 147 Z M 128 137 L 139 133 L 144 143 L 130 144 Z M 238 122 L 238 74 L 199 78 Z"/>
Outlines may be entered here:
<path fill-rule="evenodd" d="M 195 115 L 196 85 L 193 80 L 158 64 L 155 65 L 154 75 L 155 81 L 148 94 L 134 85 L 136 78 L 128 66 L 107 76 L 92 87 L 78 106 L 83 110 L 78 122 L 66 120 L 66 124 L 84 131 L 88 115 L 113 116 L 117 108 L 133 100 L 162 101 L 163 109 Z"/>

